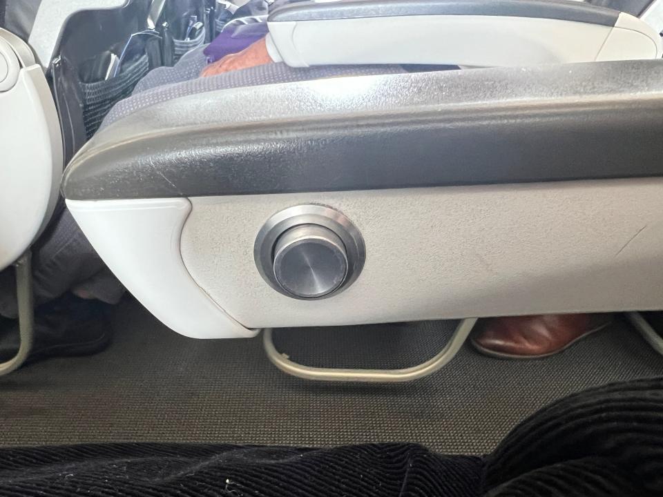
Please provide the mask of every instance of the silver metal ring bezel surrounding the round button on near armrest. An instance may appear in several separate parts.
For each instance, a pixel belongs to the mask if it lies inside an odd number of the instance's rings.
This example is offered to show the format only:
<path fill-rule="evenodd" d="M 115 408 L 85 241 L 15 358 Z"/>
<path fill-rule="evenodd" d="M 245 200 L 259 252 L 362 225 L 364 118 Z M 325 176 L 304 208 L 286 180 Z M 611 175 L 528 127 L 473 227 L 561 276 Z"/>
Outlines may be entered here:
<path fill-rule="evenodd" d="M 290 228 L 302 224 L 317 224 L 328 228 L 340 238 L 345 246 L 347 257 L 345 281 L 338 289 L 321 297 L 304 298 L 293 295 L 282 288 L 274 274 L 274 249 L 279 237 Z M 366 260 L 366 249 L 361 233 L 345 215 L 331 207 L 307 204 L 286 208 L 270 217 L 258 232 L 256 243 L 253 245 L 253 258 L 262 278 L 279 293 L 297 300 L 322 300 L 338 295 L 357 279 Z"/>

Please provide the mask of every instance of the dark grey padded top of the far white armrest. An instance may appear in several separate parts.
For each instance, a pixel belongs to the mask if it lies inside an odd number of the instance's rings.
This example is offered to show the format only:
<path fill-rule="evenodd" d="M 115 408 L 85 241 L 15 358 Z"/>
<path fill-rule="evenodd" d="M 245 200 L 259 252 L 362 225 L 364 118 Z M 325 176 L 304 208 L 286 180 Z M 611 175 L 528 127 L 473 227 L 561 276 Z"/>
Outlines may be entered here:
<path fill-rule="evenodd" d="M 291 3 L 270 14 L 269 22 L 408 15 L 538 17 L 615 26 L 619 12 L 570 0 L 340 0 Z"/>

